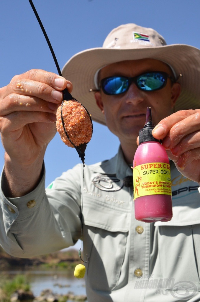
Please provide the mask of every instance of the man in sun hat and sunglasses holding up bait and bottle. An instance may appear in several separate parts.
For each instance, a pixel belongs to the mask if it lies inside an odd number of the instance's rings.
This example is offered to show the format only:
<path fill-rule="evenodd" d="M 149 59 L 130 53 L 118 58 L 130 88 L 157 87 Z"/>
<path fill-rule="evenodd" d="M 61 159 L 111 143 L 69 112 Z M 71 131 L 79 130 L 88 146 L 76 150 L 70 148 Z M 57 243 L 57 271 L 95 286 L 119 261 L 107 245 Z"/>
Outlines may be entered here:
<path fill-rule="evenodd" d="M 126 24 L 102 48 L 75 55 L 63 68 L 73 96 L 120 140 L 114 158 L 85 166 L 82 258 L 89 256 L 89 301 L 200 300 L 199 55 L 191 46 L 167 46 L 152 29 Z M 82 165 L 44 188 L 44 153 L 66 87 L 72 91 L 62 77 L 32 70 L 0 91 L 6 150 L 1 244 L 11 255 L 45 254 L 80 238 Z M 134 218 L 131 165 L 147 106 L 157 124 L 153 135 L 174 162 L 169 222 Z"/>

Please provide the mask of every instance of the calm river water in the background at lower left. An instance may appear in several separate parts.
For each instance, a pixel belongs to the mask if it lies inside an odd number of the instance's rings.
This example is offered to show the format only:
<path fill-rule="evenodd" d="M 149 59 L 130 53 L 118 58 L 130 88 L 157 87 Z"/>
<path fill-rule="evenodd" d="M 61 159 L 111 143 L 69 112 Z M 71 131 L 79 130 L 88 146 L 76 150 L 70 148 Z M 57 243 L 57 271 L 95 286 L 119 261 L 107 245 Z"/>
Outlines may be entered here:
<path fill-rule="evenodd" d="M 18 274 L 26 276 L 35 297 L 39 296 L 41 291 L 45 289 L 50 289 L 53 294 L 67 294 L 68 292 L 72 292 L 75 295 L 86 295 L 84 278 L 75 278 L 71 270 L 31 268 L 21 271 L 19 269 L 13 269 L 1 271 L 0 278 L 5 278 L 6 276 L 13 278 Z"/>

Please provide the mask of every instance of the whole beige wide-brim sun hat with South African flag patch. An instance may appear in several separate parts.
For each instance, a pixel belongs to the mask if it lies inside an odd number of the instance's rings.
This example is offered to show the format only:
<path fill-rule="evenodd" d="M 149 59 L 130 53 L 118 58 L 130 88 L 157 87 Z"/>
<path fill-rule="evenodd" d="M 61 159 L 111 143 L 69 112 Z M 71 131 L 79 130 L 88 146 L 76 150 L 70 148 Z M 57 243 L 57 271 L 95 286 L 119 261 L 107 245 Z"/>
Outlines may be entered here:
<path fill-rule="evenodd" d="M 92 120 L 105 124 L 91 92 L 98 89 L 98 71 L 111 63 L 146 58 L 168 64 L 180 83 L 174 111 L 200 108 L 200 50 L 185 44 L 167 45 L 155 30 L 136 24 L 120 25 L 108 34 L 103 47 L 75 54 L 63 67 L 62 75 L 72 82 L 73 97 L 85 106 Z"/>

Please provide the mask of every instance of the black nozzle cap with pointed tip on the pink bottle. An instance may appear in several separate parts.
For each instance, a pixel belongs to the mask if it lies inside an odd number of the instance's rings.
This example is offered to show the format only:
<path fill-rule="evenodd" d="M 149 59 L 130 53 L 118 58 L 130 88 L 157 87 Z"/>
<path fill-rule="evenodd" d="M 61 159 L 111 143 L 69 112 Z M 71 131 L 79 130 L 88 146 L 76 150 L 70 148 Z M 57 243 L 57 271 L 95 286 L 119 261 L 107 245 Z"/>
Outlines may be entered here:
<path fill-rule="evenodd" d="M 151 116 L 151 107 L 147 107 L 147 117 L 146 117 L 146 123 L 144 124 L 144 128 L 140 129 L 139 131 L 139 145 L 144 142 L 161 142 L 160 140 L 157 140 L 152 135 L 152 130 L 154 128 L 154 124 L 152 122 L 152 116 Z"/>

